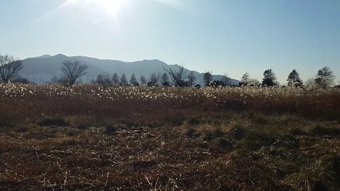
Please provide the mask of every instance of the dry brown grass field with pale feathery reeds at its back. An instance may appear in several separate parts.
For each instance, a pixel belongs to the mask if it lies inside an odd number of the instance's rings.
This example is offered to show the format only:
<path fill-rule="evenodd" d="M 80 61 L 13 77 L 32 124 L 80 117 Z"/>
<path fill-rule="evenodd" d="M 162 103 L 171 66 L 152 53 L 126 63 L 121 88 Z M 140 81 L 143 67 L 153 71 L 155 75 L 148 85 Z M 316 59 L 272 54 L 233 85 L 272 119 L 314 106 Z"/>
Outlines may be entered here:
<path fill-rule="evenodd" d="M 340 89 L 0 84 L 0 190 L 339 190 Z"/>

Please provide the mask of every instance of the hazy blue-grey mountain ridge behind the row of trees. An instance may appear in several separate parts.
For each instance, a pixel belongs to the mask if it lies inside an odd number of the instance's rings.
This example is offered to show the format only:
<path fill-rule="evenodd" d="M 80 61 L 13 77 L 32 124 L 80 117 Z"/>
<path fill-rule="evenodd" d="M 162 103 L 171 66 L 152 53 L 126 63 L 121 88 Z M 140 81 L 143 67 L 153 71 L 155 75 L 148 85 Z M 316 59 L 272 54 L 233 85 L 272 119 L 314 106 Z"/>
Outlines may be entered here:
<path fill-rule="evenodd" d="M 125 74 L 128 79 L 130 76 L 135 73 L 137 78 L 142 75 L 149 76 L 152 72 L 160 72 L 164 73 L 164 68 L 170 68 L 173 70 L 178 70 L 179 65 L 177 64 L 166 64 L 158 59 L 152 60 L 142 60 L 136 62 L 122 62 L 119 60 L 110 60 L 110 59 L 96 59 L 91 57 L 67 57 L 63 54 L 57 54 L 55 56 L 50 55 L 42 55 L 41 57 L 33 57 L 23 60 L 23 69 L 21 69 L 20 75 L 30 81 L 35 83 L 45 83 L 50 81 L 53 76 L 61 76 L 62 72 L 60 68 L 62 66 L 62 62 L 65 60 L 78 60 L 79 62 L 86 64 L 89 66 L 87 69 L 86 75 L 81 78 L 81 81 L 89 82 L 92 79 L 96 79 L 98 74 L 114 74 L 117 73 L 119 76 Z M 190 71 L 185 69 L 186 74 Z M 193 71 L 196 76 L 196 83 L 202 85 L 203 84 L 203 75 L 204 73 L 199 73 L 197 71 Z M 222 76 L 213 75 L 213 80 L 220 80 Z M 237 84 L 239 81 L 235 79 L 231 79 L 231 83 Z"/>

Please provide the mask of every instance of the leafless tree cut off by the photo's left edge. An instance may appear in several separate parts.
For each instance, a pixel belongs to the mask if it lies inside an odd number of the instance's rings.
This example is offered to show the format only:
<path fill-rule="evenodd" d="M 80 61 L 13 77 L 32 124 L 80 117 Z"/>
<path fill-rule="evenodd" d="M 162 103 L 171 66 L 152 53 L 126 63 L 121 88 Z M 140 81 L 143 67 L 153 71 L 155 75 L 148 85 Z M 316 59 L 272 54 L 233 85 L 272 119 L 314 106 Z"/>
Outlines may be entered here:
<path fill-rule="evenodd" d="M 23 68 L 23 62 L 19 59 L 14 59 L 11 56 L 0 54 L 0 76 L 4 83 L 8 83 L 10 79 L 18 75 L 18 72 Z"/>

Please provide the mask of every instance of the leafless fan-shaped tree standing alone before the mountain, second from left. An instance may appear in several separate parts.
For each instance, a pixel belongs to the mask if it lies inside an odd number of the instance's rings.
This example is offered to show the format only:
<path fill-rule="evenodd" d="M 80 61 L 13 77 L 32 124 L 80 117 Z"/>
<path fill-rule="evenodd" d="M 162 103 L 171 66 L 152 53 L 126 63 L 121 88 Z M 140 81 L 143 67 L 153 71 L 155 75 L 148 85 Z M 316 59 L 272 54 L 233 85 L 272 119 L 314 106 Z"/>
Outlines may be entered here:
<path fill-rule="evenodd" d="M 81 64 L 79 61 L 71 62 L 69 60 L 65 60 L 62 62 L 62 73 L 64 74 L 64 78 L 67 79 L 67 83 L 69 86 L 73 86 L 73 84 L 79 79 L 79 77 L 84 76 L 86 74 L 86 69 L 89 66 L 85 64 Z"/>

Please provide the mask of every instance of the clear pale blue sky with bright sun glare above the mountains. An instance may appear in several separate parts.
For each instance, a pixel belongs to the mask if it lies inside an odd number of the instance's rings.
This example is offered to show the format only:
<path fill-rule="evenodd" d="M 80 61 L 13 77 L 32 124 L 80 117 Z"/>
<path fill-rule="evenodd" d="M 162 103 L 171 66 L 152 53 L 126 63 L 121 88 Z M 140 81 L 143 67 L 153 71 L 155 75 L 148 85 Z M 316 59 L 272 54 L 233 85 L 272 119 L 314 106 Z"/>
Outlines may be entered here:
<path fill-rule="evenodd" d="M 286 83 L 340 80 L 339 0 L 0 0 L 0 54 L 65 54 Z"/>

